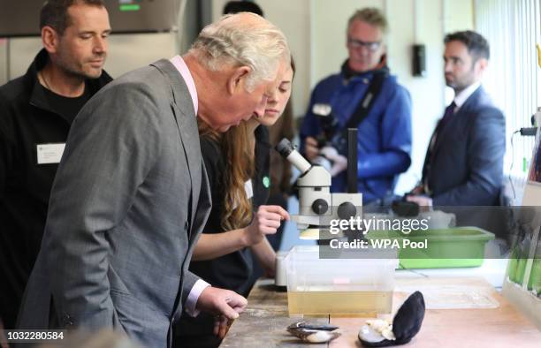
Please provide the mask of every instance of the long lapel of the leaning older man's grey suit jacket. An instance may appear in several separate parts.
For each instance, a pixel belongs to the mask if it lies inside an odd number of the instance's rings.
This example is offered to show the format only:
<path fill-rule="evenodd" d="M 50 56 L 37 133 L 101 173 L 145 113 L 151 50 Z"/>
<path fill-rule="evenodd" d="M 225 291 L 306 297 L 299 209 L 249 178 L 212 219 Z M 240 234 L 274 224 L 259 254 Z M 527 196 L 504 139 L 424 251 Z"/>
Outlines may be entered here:
<path fill-rule="evenodd" d="M 194 104 L 190 97 L 186 82 L 179 71 L 170 61 L 161 59 L 152 64 L 169 79 L 171 84 L 171 110 L 175 115 L 179 128 L 180 140 L 187 158 L 187 170 L 191 180 L 191 214 L 190 229 L 194 226 L 194 217 L 197 211 L 197 202 L 201 191 L 202 155 L 199 145 L 199 132 L 195 118 Z"/>

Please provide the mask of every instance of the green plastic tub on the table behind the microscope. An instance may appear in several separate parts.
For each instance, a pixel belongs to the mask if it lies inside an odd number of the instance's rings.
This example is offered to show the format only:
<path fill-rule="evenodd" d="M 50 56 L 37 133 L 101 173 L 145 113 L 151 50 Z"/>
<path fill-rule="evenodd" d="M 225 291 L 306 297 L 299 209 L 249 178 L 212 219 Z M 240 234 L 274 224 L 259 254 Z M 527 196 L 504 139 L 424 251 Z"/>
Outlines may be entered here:
<path fill-rule="evenodd" d="M 401 239 L 411 242 L 427 241 L 426 248 L 400 247 L 400 269 L 446 269 L 479 267 L 484 261 L 484 246 L 494 234 L 477 227 L 457 227 L 446 230 L 370 231 L 367 239 Z M 402 244 L 400 244 L 402 246 Z"/>

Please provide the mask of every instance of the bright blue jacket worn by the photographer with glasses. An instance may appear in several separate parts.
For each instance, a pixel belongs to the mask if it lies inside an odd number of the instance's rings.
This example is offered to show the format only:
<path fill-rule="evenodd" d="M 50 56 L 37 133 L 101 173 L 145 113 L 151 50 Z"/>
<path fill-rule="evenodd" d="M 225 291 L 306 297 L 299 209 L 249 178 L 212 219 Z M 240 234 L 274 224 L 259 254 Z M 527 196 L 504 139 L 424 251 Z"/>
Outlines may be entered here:
<path fill-rule="evenodd" d="M 317 84 L 301 125 L 301 152 L 306 137 L 321 133 L 312 106 L 330 104 L 333 116 L 343 129 L 366 94 L 373 76 L 373 72 L 365 72 L 347 80 L 344 72 L 340 72 Z M 396 77 L 387 76 L 368 117 L 358 129 L 358 187 L 362 200 L 368 203 L 392 193 L 398 175 L 408 170 L 411 163 L 411 98 Z M 332 178 L 331 192 L 346 192 L 346 189 L 344 170 Z"/>

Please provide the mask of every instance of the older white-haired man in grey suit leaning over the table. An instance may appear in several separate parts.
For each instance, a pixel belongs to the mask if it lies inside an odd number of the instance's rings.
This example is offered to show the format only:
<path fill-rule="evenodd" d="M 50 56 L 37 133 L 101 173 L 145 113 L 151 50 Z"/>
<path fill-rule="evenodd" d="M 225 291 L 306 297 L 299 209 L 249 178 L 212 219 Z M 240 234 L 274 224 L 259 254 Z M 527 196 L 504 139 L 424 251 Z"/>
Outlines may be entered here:
<path fill-rule="evenodd" d="M 211 205 L 195 116 L 219 131 L 263 116 L 289 57 L 265 19 L 225 16 L 187 55 L 129 72 L 88 102 L 57 171 L 19 328 L 113 327 L 164 347 L 182 311 L 238 316 L 246 299 L 187 270 Z"/>

